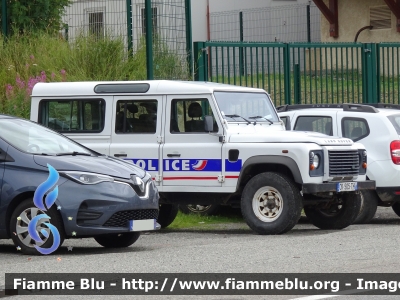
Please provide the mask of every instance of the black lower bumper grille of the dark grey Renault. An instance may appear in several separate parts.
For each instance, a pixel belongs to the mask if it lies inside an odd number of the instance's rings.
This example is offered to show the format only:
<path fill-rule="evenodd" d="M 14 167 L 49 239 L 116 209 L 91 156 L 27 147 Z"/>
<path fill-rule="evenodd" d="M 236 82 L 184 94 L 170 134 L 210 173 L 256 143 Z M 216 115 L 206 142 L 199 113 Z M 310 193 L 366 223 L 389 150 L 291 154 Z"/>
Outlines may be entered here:
<path fill-rule="evenodd" d="M 107 227 L 127 227 L 129 220 L 157 219 L 158 209 L 138 209 L 116 212 L 104 223 Z"/>

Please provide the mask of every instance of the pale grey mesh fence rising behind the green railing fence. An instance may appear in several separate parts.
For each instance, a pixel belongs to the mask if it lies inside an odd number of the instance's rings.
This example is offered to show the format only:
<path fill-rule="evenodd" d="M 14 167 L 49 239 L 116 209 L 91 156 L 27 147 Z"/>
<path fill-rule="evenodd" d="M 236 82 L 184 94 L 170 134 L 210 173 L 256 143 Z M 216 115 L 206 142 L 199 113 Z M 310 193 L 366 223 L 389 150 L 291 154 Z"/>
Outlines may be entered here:
<path fill-rule="evenodd" d="M 211 13 L 210 40 L 318 42 L 320 15 L 314 3 Z"/>

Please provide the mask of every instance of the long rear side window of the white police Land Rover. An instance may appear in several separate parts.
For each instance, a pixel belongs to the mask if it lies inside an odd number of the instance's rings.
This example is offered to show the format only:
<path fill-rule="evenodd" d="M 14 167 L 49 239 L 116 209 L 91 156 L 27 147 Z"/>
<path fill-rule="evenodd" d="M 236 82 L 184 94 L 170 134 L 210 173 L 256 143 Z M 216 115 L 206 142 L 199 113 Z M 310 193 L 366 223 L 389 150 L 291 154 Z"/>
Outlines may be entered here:
<path fill-rule="evenodd" d="M 38 120 L 59 132 L 101 132 L 105 107 L 103 99 L 42 100 Z"/>

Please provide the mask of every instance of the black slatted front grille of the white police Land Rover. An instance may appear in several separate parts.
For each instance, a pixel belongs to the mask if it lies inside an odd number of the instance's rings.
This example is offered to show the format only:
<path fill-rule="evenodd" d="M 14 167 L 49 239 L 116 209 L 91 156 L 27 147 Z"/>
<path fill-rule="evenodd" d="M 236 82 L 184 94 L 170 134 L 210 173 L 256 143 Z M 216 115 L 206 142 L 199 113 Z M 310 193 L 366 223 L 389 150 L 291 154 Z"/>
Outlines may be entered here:
<path fill-rule="evenodd" d="M 357 150 L 328 152 L 329 176 L 358 175 L 360 161 Z"/>

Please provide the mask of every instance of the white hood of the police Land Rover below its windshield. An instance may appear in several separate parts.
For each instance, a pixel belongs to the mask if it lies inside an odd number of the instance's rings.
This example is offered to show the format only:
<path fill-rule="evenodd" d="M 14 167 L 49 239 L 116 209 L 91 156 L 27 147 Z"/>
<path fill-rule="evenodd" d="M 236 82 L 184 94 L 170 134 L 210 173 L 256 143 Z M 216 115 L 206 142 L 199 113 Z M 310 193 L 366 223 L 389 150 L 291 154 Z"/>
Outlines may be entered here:
<path fill-rule="evenodd" d="M 251 128 L 251 127 L 250 127 Z M 347 146 L 353 141 L 347 138 L 329 136 L 308 131 L 254 131 L 237 132 L 229 137 L 231 143 L 315 143 L 321 146 Z"/>

